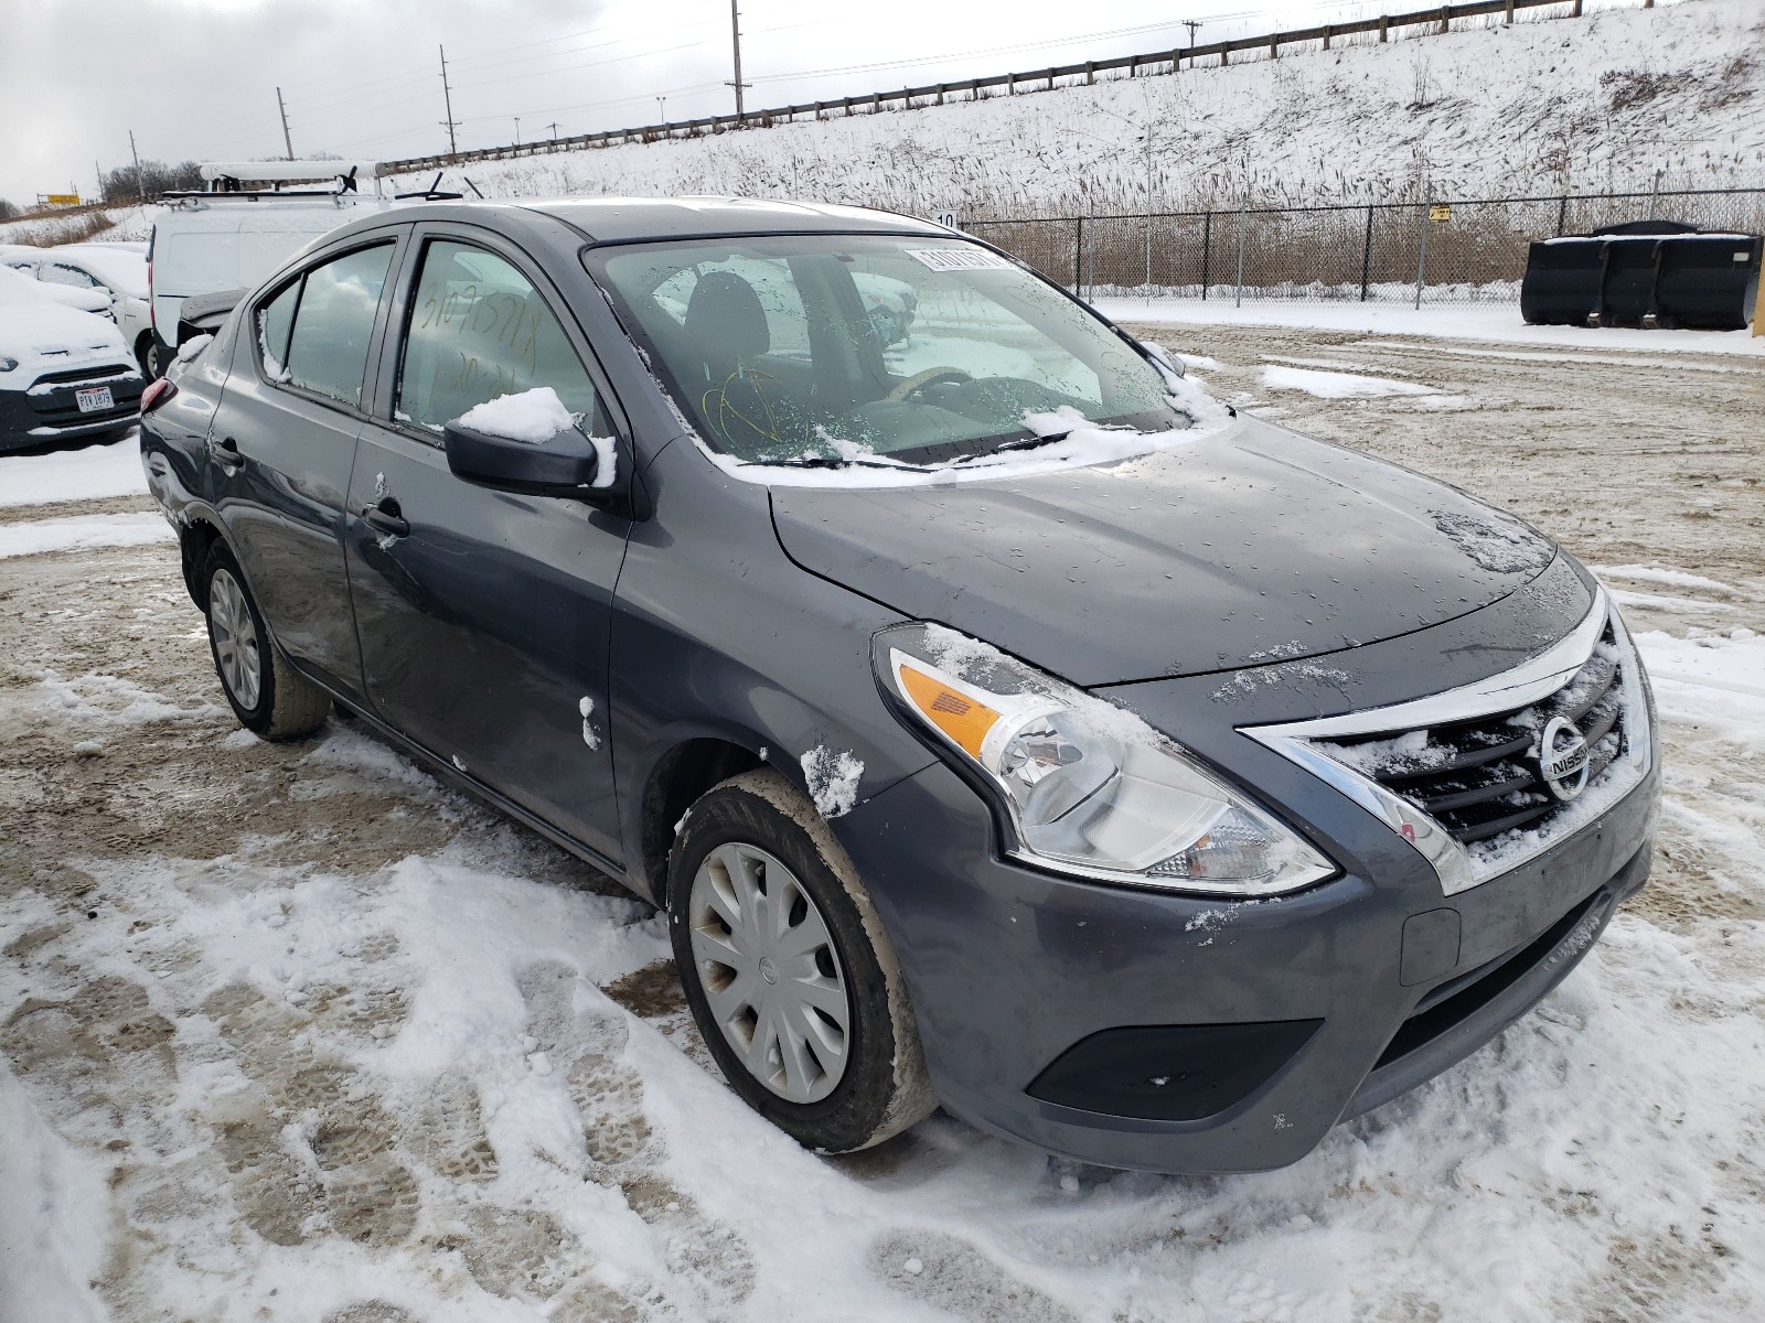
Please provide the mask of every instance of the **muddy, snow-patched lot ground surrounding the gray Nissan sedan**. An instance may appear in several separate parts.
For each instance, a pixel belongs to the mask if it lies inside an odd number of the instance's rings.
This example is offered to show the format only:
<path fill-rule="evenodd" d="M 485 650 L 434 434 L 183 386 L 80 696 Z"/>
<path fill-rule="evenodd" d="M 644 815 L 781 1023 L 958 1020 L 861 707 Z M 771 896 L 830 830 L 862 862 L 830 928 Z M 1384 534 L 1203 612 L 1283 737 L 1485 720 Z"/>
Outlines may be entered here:
<path fill-rule="evenodd" d="M 646 907 L 349 721 L 240 734 L 173 547 L 19 556 L 0 1319 L 1765 1312 L 1765 436 L 1724 422 L 1760 416 L 1758 374 L 1147 333 L 1241 407 L 1502 499 L 1631 594 L 1664 739 L 1656 878 L 1537 1011 L 1276 1173 L 1100 1171 L 943 1115 L 815 1157 L 708 1067 Z M 1629 413 L 1599 416 L 1617 395 Z M 0 459 L 0 490 L 28 462 Z M 0 529 L 148 510 L 79 482 Z"/>

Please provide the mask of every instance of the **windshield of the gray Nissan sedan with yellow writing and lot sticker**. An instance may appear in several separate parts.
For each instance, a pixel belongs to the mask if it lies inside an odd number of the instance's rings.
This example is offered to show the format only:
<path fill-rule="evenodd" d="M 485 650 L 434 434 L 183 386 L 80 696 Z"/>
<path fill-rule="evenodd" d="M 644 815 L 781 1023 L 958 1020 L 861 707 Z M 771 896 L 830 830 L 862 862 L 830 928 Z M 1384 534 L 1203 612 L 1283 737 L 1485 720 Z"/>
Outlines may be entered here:
<path fill-rule="evenodd" d="M 752 464 L 946 464 L 1094 423 L 1188 427 L 1160 370 L 957 236 L 768 235 L 590 250 L 701 434 Z"/>

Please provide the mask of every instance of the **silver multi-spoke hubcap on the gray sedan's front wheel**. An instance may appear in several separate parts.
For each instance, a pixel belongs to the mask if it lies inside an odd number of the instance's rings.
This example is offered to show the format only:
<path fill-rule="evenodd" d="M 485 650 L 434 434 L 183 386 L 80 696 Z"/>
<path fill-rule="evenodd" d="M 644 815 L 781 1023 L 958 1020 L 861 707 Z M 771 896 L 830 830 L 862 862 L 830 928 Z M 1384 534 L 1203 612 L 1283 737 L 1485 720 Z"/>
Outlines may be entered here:
<path fill-rule="evenodd" d="M 688 908 L 699 984 L 748 1074 L 791 1102 L 824 1099 L 845 1074 L 852 1013 L 828 921 L 796 873 L 757 845 L 718 845 Z"/>

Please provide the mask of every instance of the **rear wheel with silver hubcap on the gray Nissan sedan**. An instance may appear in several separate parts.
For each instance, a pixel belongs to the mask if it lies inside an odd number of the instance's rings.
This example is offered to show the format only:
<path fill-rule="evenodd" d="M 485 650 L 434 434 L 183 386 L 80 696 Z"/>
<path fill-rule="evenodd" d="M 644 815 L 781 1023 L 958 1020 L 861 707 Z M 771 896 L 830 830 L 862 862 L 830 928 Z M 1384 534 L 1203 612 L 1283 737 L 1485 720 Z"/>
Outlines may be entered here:
<path fill-rule="evenodd" d="M 208 653 L 238 723 L 263 739 L 300 739 L 325 725 L 330 695 L 282 656 L 238 561 L 221 542 L 208 552 L 201 586 Z"/>

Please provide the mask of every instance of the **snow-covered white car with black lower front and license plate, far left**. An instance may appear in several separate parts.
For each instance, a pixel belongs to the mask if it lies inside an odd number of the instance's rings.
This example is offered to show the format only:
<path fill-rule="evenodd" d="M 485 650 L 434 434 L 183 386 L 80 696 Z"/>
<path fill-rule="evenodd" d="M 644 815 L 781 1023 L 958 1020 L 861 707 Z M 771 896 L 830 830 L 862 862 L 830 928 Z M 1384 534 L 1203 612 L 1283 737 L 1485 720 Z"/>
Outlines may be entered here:
<path fill-rule="evenodd" d="M 0 277 L 0 452 L 132 427 L 145 381 L 115 323 Z"/>

